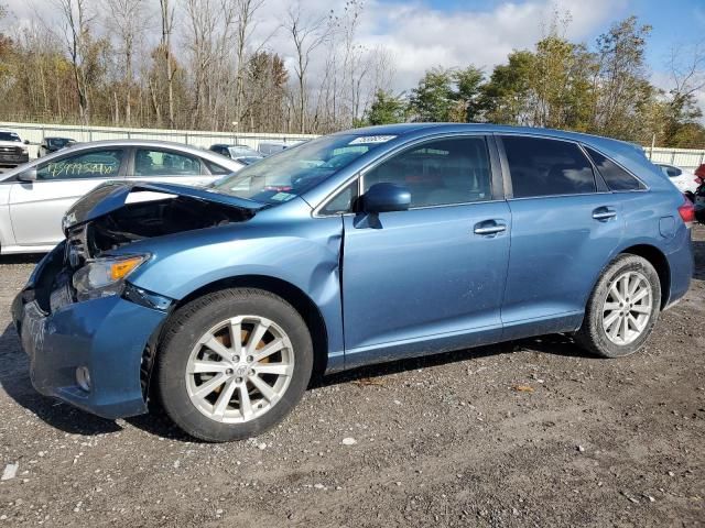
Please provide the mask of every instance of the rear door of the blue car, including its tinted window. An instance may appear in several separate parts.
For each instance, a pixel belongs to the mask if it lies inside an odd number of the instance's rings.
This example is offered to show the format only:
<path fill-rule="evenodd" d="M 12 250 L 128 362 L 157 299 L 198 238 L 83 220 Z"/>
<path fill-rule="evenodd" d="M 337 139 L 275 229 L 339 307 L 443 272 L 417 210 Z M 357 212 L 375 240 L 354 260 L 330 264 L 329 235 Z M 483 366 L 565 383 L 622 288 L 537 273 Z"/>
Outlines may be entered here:
<path fill-rule="evenodd" d="M 581 145 L 503 135 L 512 216 L 503 337 L 574 330 L 623 227 L 620 204 Z"/>

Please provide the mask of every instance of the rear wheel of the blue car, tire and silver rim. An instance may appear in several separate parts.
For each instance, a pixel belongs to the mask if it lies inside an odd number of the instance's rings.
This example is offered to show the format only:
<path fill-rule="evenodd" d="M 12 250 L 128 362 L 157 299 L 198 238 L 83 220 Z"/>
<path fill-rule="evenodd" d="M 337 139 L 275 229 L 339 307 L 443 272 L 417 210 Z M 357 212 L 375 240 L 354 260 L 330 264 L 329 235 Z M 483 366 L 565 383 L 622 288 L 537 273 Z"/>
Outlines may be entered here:
<path fill-rule="evenodd" d="M 575 339 L 600 358 L 622 358 L 643 346 L 659 318 L 661 283 L 649 261 L 619 255 L 593 290 Z"/>

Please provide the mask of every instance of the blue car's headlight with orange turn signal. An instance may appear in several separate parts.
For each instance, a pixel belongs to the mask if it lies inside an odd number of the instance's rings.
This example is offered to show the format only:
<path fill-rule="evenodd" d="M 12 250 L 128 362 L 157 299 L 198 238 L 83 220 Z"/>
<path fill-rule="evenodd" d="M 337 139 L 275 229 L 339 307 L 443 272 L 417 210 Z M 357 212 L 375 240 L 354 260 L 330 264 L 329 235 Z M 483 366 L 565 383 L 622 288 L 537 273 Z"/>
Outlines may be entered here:
<path fill-rule="evenodd" d="M 140 267 L 149 255 L 130 255 L 97 258 L 88 262 L 74 274 L 74 288 L 78 300 L 118 295 L 124 278 Z"/>

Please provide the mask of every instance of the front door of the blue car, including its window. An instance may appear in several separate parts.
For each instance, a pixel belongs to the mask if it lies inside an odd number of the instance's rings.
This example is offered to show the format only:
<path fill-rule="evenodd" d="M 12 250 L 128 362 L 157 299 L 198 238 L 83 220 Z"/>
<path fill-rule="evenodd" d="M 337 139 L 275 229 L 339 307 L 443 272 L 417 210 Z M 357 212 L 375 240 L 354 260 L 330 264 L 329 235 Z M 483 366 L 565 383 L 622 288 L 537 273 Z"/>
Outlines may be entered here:
<path fill-rule="evenodd" d="M 411 208 L 343 217 L 346 367 L 500 339 L 511 215 L 490 147 L 430 141 L 364 174 L 362 193 L 403 185 Z"/>

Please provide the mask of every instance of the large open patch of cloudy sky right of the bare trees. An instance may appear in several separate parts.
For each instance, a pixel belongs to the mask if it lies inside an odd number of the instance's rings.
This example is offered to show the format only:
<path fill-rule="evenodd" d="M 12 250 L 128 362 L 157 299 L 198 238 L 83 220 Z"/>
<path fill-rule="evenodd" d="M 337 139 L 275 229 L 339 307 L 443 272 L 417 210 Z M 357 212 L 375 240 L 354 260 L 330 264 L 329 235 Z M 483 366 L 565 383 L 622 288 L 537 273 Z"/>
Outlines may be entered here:
<path fill-rule="evenodd" d="M 414 84 L 425 69 L 474 64 L 488 70 L 506 62 L 512 50 L 531 47 L 546 32 L 552 10 L 568 11 L 572 22 L 567 35 L 585 40 L 605 26 L 625 1 L 550 0 L 503 2 L 491 10 L 442 12 L 423 2 L 388 9 L 379 1 L 369 6 L 367 16 L 384 20 L 383 34 L 367 34 L 364 40 L 392 50 L 401 86 Z"/>

